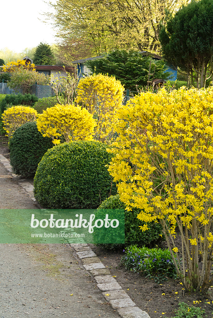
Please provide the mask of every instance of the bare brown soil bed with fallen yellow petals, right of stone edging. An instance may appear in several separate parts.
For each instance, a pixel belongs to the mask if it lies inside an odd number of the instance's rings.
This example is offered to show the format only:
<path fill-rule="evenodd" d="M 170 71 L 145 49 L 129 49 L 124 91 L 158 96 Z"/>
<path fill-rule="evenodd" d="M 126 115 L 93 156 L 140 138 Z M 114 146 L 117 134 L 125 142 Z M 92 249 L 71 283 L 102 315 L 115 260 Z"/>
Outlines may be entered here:
<path fill-rule="evenodd" d="M 103 251 L 93 244 L 89 245 L 110 270 L 111 275 L 116 276 L 115 279 L 136 303 L 136 306 L 145 310 L 151 318 L 173 317 L 175 315 L 174 309 L 178 308 L 180 302 L 185 302 L 189 306 L 204 308 L 207 317 L 213 317 L 213 288 L 209 290 L 209 295 L 195 295 L 186 292 L 183 294 L 183 285 L 180 285 L 180 280 L 170 279 L 160 282 L 158 285 L 154 280 L 126 270 L 120 263 L 123 255 L 122 250 L 117 252 Z M 175 294 L 176 292 L 178 294 Z M 201 301 L 199 305 L 193 304 L 193 301 L 196 300 Z M 209 301 L 210 304 L 207 304 L 206 302 Z"/>

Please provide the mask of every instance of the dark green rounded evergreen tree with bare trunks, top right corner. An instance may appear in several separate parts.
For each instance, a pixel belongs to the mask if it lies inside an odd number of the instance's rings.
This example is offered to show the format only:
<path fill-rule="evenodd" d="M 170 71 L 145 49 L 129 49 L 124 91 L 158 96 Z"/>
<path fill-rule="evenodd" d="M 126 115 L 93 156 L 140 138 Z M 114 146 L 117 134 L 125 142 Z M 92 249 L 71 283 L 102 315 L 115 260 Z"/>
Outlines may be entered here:
<path fill-rule="evenodd" d="M 168 62 L 188 73 L 191 84 L 205 87 L 212 73 L 213 0 L 191 1 L 171 17 L 160 32 Z"/>

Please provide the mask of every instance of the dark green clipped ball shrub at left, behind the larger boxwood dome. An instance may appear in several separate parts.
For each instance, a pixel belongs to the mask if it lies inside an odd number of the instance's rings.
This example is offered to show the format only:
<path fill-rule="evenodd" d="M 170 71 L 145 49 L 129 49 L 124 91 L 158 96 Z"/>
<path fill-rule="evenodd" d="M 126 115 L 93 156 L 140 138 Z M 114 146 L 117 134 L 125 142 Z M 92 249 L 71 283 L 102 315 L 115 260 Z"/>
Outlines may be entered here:
<path fill-rule="evenodd" d="M 34 176 L 42 156 L 52 146 L 52 139 L 41 135 L 36 122 L 27 122 L 17 128 L 9 144 L 14 173 Z"/>

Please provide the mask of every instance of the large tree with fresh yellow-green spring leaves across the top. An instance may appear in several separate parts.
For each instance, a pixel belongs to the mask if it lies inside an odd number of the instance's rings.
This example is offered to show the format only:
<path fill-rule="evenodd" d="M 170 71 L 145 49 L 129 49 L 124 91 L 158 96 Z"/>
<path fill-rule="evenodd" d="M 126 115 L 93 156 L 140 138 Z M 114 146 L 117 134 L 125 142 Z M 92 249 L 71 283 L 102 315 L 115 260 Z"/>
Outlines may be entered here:
<path fill-rule="evenodd" d="M 82 46 L 90 52 L 92 47 L 94 55 L 127 47 L 157 51 L 160 25 L 185 3 L 188 0 L 57 0 L 50 2 L 54 13 L 45 15 L 53 21 L 59 39 L 71 40 L 72 52 L 81 52 Z"/>

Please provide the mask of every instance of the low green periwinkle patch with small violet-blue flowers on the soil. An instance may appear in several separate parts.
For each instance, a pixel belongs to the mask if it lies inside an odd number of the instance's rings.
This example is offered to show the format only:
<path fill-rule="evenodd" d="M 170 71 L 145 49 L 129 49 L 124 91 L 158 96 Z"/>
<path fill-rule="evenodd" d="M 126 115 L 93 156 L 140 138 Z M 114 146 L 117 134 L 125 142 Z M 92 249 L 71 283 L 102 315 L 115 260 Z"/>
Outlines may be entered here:
<path fill-rule="evenodd" d="M 145 246 L 140 248 L 136 245 L 130 245 L 124 252 L 125 255 L 121 258 L 121 264 L 126 269 L 146 275 L 146 278 L 153 278 L 156 283 L 168 278 L 177 278 L 177 270 L 169 249 L 149 249 Z"/>

